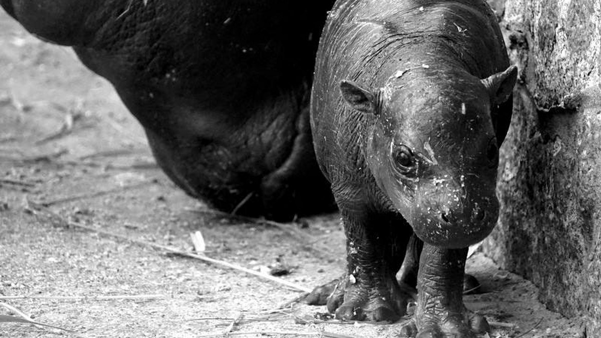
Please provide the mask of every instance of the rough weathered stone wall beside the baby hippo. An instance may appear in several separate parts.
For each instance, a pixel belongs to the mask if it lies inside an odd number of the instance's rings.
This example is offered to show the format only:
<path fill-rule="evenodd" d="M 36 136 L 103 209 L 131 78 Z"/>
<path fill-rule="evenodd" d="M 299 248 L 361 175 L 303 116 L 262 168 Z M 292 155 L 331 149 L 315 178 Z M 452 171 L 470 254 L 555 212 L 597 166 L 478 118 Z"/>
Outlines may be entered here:
<path fill-rule="evenodd" d="M 484 251 L 601 337 L 601 1 L 490 2 L 520 73 Z"/>

